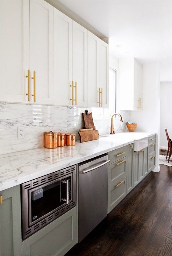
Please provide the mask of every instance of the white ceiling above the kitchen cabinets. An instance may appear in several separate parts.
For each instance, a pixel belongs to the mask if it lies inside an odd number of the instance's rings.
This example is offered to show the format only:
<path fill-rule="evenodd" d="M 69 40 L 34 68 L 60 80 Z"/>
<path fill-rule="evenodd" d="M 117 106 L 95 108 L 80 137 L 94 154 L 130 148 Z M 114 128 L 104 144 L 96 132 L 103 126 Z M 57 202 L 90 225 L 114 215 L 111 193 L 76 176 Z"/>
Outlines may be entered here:
<path fill-rule="evenodd" d="M 46 1 L 99 37 L 108 37 L 117 58 L 172 60 L 172 0 Z"/>

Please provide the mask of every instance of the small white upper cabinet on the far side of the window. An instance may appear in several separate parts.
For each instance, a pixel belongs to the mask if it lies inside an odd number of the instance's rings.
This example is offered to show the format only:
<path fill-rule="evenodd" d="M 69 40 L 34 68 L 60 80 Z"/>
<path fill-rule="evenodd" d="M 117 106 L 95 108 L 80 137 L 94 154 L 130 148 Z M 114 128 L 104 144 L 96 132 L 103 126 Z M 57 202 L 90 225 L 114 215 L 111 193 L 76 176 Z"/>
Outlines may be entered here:
<path fill-rule="evenodd" d="M 120 110 L 143 109 L 143 70 L 134 58 L 119 60 Z"/>

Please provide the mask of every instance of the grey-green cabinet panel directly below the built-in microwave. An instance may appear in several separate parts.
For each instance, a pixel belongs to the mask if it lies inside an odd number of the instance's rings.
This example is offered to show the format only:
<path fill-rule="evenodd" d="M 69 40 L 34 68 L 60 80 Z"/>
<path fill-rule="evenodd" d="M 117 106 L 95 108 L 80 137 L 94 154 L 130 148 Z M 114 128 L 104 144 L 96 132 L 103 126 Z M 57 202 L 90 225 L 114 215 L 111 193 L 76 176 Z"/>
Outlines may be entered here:
<path fill-rule="evenodd" d="M 23 255 L 64 255 L 77 243 L 77 207 L 22 242 Z"/>

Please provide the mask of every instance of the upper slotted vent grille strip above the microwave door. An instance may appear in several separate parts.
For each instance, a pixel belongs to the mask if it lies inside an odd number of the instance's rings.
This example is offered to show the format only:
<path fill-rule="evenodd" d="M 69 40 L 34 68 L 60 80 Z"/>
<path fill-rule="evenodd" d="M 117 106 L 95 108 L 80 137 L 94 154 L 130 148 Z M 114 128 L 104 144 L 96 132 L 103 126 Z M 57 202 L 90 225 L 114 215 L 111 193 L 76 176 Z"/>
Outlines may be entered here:
<path fill-rule="evenodd" d="M 66 169 L 59 170 L 59 171 L 51 173 L 49 175 L 42 176 L 42 177 L 40 177 L 38 179 L 35 179 L 35 180 L 32 180 L 32 181 L 28 181 L 26 183 L 23 183 L 22 184 L 22 188 L 24 188 L 24 189 L 34 188 L 36 186 L 42 185 L 44 183 L 47 183 L 48 181 L 53 181 L 53 180 L 56 180 L 57 178 L 59 178 L 61 176 L 70 174 L 74 170 L 76 170 L 76 166 L 71 166 L 71 167 L 68 167 Z"/>

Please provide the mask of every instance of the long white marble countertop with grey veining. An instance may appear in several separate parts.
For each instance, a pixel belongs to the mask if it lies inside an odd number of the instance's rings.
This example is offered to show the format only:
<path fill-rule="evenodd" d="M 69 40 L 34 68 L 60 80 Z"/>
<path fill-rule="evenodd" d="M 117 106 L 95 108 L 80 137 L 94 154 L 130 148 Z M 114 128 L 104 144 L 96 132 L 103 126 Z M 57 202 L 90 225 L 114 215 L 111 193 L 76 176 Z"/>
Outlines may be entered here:
<path fill-rule="evenodd" d="M 123 132 L 110 136 L 105 134 L 95 141 L 84 143 L 76 141 L 73 147 L 37 148 L 0 155 L 0 191 L 81 163 L 131 144 L 134 139 L 153 134 L 155 133 Z"/>

